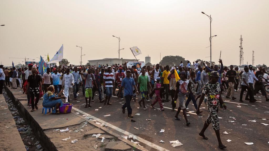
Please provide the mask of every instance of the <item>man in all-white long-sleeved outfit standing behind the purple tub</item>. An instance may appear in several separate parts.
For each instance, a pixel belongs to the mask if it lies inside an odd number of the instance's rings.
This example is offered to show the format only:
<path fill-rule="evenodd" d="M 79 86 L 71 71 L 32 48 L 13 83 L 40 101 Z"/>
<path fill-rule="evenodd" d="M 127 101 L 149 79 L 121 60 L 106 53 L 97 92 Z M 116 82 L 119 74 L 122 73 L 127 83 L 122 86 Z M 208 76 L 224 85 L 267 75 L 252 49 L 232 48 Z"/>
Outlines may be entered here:
<path fill-rule="evenodd" d="M 65 103 L 69 103 L 70 101 L 70 95 L 72 93 L 72 86 L 74 85 L 74 77 L 73 74 L 70 74 L 70 69 L 66 68 L 65 69 L 66 74 L 63 75 L 63 80 L 62 80 L 62 86 L 63 88 L 63 94 L 66 97 Z"/>

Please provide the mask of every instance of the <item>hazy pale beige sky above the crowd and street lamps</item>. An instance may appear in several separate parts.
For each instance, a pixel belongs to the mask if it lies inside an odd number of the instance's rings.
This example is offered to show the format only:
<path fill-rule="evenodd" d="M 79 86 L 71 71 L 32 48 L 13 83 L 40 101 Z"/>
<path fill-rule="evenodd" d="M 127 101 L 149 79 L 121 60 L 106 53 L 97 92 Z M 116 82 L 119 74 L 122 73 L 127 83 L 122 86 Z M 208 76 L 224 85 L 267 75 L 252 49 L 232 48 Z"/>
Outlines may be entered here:
<path fill-rule="evenodd" d="M 213 18 L 212 61 L 239 64 L 240 35 L 243 36 L 244 64 L 266 64 L 268 60 L 268 0 L 237 1 L 69 1 L 2 0 L 0 5 L 0 61 L 22 63 L 40 55 L 50 58 L 63 44 L 63 56 L 79 64 L 91 59 L 133 59 L 130 47 L 137 46 L 145 61 L 160 62 L 161 56 L 180 55 L 195 61 L 210 58 L 210 20 Z M 266 19 L 267 18 L 267 19 Z M 208 48 L 206 48 L 208 47 Z M 36 58 L 38 57 L 38 58 Z M 29 60 L 32 61 L 32 60 Z"/>

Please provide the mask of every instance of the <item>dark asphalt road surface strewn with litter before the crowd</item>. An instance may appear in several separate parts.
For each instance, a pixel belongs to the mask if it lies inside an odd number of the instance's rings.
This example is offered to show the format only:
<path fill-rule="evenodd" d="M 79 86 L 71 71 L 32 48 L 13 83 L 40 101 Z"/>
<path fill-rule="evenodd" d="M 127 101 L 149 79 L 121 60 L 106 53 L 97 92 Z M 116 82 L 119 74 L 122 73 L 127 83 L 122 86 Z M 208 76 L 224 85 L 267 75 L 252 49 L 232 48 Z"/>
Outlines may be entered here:
<path fill-rule="evenodd" d="M 222 95 L 223 100 L 228 101 L 225 102 L 227 109 L 223 110 L 220 108 L 218 112 L 218 116 L 222 118 L 219 119 L 220 133 L 222 143 L 227 146 L 225 150 L 267 150 L 269 147 L 269 125 L 265 126 L 260 123 L 269 124 L 269 101 L 266 101 L 265 97 L 261 96 L 261 94 L 257 94 L 255 98 L 261 102 L 249 103 L 249 101 L 244 100 L 244 104 L 247 104 L 244 105 L 239 104 L 241 103 L 239 102 L 240 92 L 235 92 L 234 94 L 238 99 L 230 100 L 225 98 L 225 94 Z M 243 98 L 245 98 L 245 95 L 246 94 L 244 94 Z M 215 131 L 212 128 L 212 124 L 210 124 L 205 132 L 208 140 L 205 140 L 198 135 L 208 116 L 207 105 L 204 103 L 201 105 L 201 108 L 205 107 L 206 109 L 200 109 L 200 111 L 203 111 L 202 115 L 187 113 L 190 115 L 187 116 L 187 118 L 191 124 L 186 126 L 182 112 L 179 114 L 181 121 L 174 119 L 176 111 L 171 112 L 171 109 L 169 109 L 171 108 L 171 101 L 163 103 L 165 111 L 157 109 L 160 108 L 158 103 L 154 105 L 155 108 L 147 106 L 147 110 L 144 111 L 143 108 L 138 108 L 139 104 L 137 102 L 131 101 L 131 107 L 133 109 L 132 114 L 134 116 L 133 120 L 136 121 L 131 122 L 131 119 L 127 118 L 127 109 L 125 114 L 122 113 L 121 107 L 122 104 L 125 103 L 125 99 L 120 100 L 117 97 L 111 97 L 112 105 L 104 105 L 99 102 L 98 96 L 94 96 L 95 102 L 91 102 L 93 107 L 84 108 L 85 98 L 82 96 L 81 89 L 77 98 L 77 100 L 74 100 L 73 96 L 71 97 L 70 103 L 73 104 L 73 107 L 122 130 L 137 135 L 138 137 L 153 143 L 153 145 L 156 144 L 161 146 L 166 150 L 220 150 L 218 148 L 218 141 Z M 141 96 L 139 95 L 138 100 L 140 100 L 140 98 Z M 169 99 L 171 99 L 171 97 Z M 199 100 L 197 100 L 197 104 L 198 101 Z M 151 102 L 146 103 L 146 105 L 150 104 Z M 237 106 L 241 107 L 239 108 Z M 190 102 L 188 108 L 189 111 L 196 111 L 192 102 Z M 98 111 L 95 111 L 95 109 L 98 109 Z M 135 115 L 136 113 L 140 113 L 140 116 Z M 109 114 L 110 116 L 104 116 Z M 235 119 L 230 118 L 230 116 Z M 248 120 L 256 120 L 256 122 Z M 246 124 L 246 126 L 242 124 Z M 118 133 L 119 135 L 123 135 L 115 129 L 109 127 L 108 129 Z M 161 129 L 164 129 L 165 132 L 159 133 Z M 223 134 L 224 131 L 229 134 Z M 231 141 L 227 142 L 226 140 L 228 139 Z M 165 143 L 161 143 L 161 140 Z M 169 144 L 169 141 L 175 140 L 179 140 L 179 142 L 183 145 L 175 148 L 172 147 L 171 144 Z M 245 142 L 253 142 L 254 145 L 246 145 Z M 144 146 L 148 150 L 156 150 L 141 142 L 140 145 Z"/>

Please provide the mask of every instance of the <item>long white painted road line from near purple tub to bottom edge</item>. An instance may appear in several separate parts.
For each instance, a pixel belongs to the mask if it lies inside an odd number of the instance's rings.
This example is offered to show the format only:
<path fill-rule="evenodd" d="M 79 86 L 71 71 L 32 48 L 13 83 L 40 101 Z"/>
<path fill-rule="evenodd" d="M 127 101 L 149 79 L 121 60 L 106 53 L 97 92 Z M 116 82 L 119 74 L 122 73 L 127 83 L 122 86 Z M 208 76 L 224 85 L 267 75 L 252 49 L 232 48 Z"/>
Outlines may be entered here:
<path fill-rule="evenodd" d="M 123 134 L 125 134 L 125 135 L 127 135 L 127 136 L 129 136 L 129 135 L 133 135 L 133 136 L 134 136 L 134 134 L 129 133 L 128 131 L 122 130 L 122 129 L 120 129 L 119 127 L 116 127 L 116 126 L 114 126 L 114 125 L 112 125 L 112 124 L 109 124 L 109 123 L 107 123 L 107 122 L 105 122 L 105 121 L 103 121 L 103 120 L 101 120 L 101 119 L 98 119 L 98 118 L 92 116 L 92 115 L 89 115 L 88 113 L 83 112 L 83 111 L 81 111 L 81 110 L 79 110 L 79 109 L 77 109 L 77 108 L 75 108 L 75 107 L 72 107 L 72 109 L 75 110 L 75 111 L 77 111 L 77 112 L 80 112 L 80 113 L 82 113 L 82 114 L 84 114 L 84 115 L 88 115 L 88 117 L 90 117 L 90 118 L 92 118 L 92 119 L 95 119 L 95 120 L 97 120 L 98 122 L 104 123 L 104 124 L 107 125 L 108 127 L 111 127 L 112 129 L 114 129 L 114 130 L 116 130 L 116 131 L 119 131 L 119 132 L 121 132 L 121 133 L 123 133 Z M 152 148 L 155 148 L 155 149 L 157 149 L 157 150 L 160 150 L 160 151 L 169 151 L 169 150 L 167 150 L 167 149 L 165 149 L 165 148 L 162 148 L 161 146 L 158 146 L 158 145 L 156 145 L 156 144 L 153 144 L 153 143 L 151 143 L 151 142 L 149 142 L 149 141 L 147 141 L 147 140 L 145 140 L 145 139 L 143 139 L 143 138 L 140 138 L 140 137 L 138 137 L 138 136 L 137 136 L 137 141 L 140 141 L 140 142 L 142 142 L 142 143 L 144 143 L 144 144 L 146 144 L 146 145 L 148 145 L 148 146 L 150 146 L 150 147 L 152 147 Z"/>

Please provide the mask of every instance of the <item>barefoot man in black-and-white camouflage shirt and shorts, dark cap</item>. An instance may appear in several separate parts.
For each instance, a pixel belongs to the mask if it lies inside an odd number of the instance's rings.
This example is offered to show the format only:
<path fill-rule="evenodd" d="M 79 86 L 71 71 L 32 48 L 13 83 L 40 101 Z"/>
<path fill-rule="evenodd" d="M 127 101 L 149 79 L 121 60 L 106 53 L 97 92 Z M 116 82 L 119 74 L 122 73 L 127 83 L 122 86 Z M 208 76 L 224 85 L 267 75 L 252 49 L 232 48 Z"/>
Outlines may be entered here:
<path fill-rule="evenodd" d="M 220 83 L 218 83 L 218 78 L 220 77 L 220 74 L 218 73 L 218 71 L 212 71 L 210 76 L 211 76 L 211 80 L 210 82 L 204 85 L 203 90 L 202 90 L 202 95 L 200 97 L 199 105 L 196 110 L 196 113 L 200 114 L 200 110 L 199 110 L 200 105 L 202 104 L 204 100 L 204 96 L 207 95 L 207 98 L 208 98 L 207 106 L 208 106 L 209 115 L 199 135 L 202 136 L 204 139 L 208 139 L 204 135 L 204 131 L 206 131 L 209 124 L 212 123 L 213 129 L 215 130 L 215 133 L 218 138 L 219 148 L 223 149 L 223 148 L 226 148 L 226 146 L 222 144 L 221 139 L 220 139 L 220 122 L 218 120 L 217 113 L 218 113 L 218 106 L 220 105 L 220 103 L 223 105 L 224 110 L 226 110 L 227 107 L 225 103 L 223 102 L 221 93 L 220 93 L 221 86 L 220 86 Z"/>

